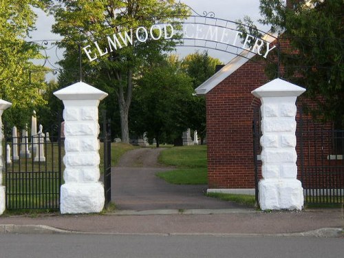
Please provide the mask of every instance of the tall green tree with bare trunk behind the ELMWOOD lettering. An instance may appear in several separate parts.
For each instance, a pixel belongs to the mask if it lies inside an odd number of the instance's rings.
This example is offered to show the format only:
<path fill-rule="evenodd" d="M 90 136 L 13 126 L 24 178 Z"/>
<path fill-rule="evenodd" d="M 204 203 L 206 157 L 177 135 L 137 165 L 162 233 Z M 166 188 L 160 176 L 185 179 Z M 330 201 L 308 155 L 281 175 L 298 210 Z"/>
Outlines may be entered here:
<path fill-rule="evenodd" d="M 64 36 L 60 45 L 66 50 L 65 60 L 60 63 L 64 77 L 68 77 L 66 74 L 73 67 L 78 67 L 77 44 L 87 46 L 97 41 L 104 50 L 106 42 L 99 40 L 104 37 L 106 39 L 106 34 L 124 33 L 140 26 L 149 28 L 155 21 L 164 23 L 171 21 L 172 17 L 186 14 L 183 5 L 176 8 L 174 3 L 174 0 L 80 0 L 64 1 L 55 6 L 52 9 L 56 19 L 53 31 Z M 153 33 L 158 32 L 154 30 Z M 122 142 L 129 142 L 128 116 L 136 75 L 149 61 L 159 56 L 160 52 L 169 52 L 175 46 L 173 40 L 141 43 L 136 35 L 133 38 L 132 45 L 98 56 L 96 61 L 83 60 L 84 78 L 87 82 L 117 97 Z M 125 45 L 124 40 L 120 43 Z"/>

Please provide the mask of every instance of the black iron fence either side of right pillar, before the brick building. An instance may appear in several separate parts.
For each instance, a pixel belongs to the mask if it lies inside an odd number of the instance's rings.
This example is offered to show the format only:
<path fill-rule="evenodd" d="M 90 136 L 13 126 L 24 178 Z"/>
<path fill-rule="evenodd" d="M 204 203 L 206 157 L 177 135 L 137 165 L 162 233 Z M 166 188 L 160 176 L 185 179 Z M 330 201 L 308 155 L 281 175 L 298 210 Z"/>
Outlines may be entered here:
<path fill-rule="evenodd" d="M 259 108 L 252 121 L 255 190 L 258 202 L 258 182 L 261 179 L 261 137 Z M 313 122 L 297 116 L 297 166 L 305 204 L 344 203 L 344 131 L 332 124 Z"/>

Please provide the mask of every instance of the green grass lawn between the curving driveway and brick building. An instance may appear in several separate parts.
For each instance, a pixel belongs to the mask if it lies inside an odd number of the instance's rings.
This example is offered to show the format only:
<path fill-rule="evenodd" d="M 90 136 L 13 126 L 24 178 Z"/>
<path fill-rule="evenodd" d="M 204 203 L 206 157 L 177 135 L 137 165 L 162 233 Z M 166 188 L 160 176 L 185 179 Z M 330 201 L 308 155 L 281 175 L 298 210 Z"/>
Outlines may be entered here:
<path fill-rule="evenodd" d="M 173 147 L 160 153 L 159 162 L 176 169 L 157 173 L 170 184 L 208 184 L 206 145 Z"/>

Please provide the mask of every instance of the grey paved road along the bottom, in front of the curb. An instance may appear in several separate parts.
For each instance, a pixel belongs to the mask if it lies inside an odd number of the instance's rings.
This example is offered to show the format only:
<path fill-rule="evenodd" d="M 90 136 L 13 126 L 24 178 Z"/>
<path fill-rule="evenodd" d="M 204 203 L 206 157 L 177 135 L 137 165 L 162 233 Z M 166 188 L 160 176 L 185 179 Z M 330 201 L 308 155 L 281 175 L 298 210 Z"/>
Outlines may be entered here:
<path fill-rule="evenodd" d="M 343 257 L 343 239 L 202 235 L 0 235 L 0 257 Z"/>

